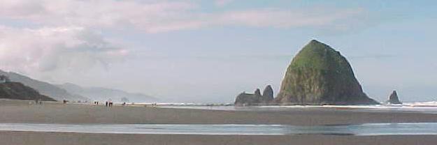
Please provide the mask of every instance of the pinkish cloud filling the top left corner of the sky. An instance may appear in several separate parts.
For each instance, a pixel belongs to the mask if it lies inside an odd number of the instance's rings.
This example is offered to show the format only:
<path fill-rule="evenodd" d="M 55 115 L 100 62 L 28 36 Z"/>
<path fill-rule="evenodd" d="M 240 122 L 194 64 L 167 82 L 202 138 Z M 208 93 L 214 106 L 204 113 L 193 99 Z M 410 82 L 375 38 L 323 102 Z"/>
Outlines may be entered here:
<path fill-rule="evenodd" d="M 129 27 L 154 31 L 169 20 L 180 20 L 183 12 L 194 8 L 186 2 L 138 1 L 0 1 L 0 17 L 29 20 L 45 26 Z M 160 28 L 158 28 L 160 29 Z"/>

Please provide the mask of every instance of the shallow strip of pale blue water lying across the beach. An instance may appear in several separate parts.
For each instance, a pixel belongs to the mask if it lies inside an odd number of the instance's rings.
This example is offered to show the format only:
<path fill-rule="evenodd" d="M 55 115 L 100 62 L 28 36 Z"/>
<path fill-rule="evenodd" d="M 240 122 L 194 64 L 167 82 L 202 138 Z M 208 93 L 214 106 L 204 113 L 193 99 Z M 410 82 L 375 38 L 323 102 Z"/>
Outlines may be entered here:
<path fill-rule="evenodd" d="M 0 123 L 3 131 L 79 132 L 157 135 L 437 135 L 437 123 L 359 125 L 181 125 L 181 124 L 34 124 Z"/>

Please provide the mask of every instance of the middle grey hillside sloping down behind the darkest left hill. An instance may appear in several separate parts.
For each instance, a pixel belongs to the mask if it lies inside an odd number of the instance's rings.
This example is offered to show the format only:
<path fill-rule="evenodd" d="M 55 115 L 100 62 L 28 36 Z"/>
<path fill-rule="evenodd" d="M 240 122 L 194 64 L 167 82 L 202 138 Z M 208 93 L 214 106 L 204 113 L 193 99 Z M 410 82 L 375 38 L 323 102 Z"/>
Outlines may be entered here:
<path fill-rule="evenodd" d="M 41 82 L 17 73 L 4 72 L 3 70 L 0 70 L 0 75 L 5 75 L 6 77 L 9 77 L 10 81 L 12 82 L 21 82 L 26 86 L 30 86 L 31 88 L 39 91 L 39 93 L 41 93 L 42 95 L 50 96 L 55 100 L 89 100 L 88 98 L 85 98 L 83 96 L 69 93 L 65 89 L 61 89 L 58 86 L 55 86 L 48 82 Z"/>

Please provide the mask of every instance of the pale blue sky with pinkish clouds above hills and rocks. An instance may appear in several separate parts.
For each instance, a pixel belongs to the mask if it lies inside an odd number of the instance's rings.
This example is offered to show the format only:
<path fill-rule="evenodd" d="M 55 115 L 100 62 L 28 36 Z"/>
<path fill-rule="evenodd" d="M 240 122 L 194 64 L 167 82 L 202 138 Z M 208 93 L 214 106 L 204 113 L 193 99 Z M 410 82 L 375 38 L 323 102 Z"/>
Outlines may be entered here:
<path fill-rule="evenodd" d="M 0 69 L 34 79 L 234 102 L 278 93 L 310 40 L 351 63 L 371 98 L 437 100 L 437 1 L 2 0 Z"/>

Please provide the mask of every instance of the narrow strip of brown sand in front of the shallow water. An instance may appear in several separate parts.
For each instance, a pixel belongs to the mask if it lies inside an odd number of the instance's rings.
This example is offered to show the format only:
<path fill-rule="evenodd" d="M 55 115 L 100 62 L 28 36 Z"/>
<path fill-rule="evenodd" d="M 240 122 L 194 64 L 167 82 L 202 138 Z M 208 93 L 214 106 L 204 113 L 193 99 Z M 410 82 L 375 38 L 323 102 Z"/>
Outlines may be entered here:
<path fill-rule="evenodd" d="M 106 135 L 54 132 L 2 132 L 3 144 L 117 144 L 117 145 L 222 145 L 222 144 L 434 144 L 436 135 L 333 136 L 333 135 Z"/>

